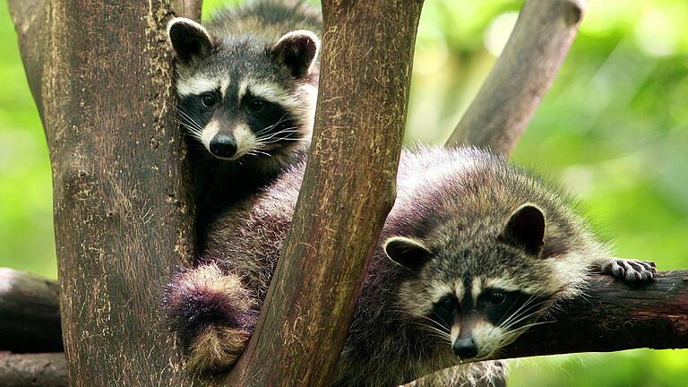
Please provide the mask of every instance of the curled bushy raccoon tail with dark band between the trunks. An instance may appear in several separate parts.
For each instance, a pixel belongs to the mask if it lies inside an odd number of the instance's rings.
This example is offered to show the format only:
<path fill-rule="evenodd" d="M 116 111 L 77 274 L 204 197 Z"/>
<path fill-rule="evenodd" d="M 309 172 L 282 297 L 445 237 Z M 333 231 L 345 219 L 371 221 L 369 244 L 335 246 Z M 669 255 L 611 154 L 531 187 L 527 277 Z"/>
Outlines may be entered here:
<path fill-rule="evenodd" d="M 216 264 L 173 277 L 165 289 L 163 305 L 189 371 L 217 372 L 236 363 L 255 324 L 254 304 L 241 279 L 223 274 Z"/>

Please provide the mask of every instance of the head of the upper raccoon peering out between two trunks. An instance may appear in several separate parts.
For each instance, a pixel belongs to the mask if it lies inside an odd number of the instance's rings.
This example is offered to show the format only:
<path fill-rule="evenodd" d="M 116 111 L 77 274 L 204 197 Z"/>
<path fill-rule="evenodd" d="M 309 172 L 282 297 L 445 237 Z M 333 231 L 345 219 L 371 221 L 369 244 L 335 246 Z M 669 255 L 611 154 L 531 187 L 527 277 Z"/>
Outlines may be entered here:
<path fill-rule="evenodd" d="M 275 42 L 213 38 L 184 18 L 168 24 L 182 123 L 218 159 L 288 153 L 310 137 L 320 41 L 296 30 Z M 315 78 L 315 81 L 317 79 Z"/>

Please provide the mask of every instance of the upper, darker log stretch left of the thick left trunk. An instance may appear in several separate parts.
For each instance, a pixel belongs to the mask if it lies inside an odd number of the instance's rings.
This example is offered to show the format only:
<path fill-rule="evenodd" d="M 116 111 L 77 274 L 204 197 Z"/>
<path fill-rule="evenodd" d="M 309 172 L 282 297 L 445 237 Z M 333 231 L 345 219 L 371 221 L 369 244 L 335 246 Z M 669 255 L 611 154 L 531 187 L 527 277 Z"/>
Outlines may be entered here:
<path fill-rule="evenodd" d="M 0 350 L 62 351 L 59 292 L 54 281 L 0 268 Z"/>

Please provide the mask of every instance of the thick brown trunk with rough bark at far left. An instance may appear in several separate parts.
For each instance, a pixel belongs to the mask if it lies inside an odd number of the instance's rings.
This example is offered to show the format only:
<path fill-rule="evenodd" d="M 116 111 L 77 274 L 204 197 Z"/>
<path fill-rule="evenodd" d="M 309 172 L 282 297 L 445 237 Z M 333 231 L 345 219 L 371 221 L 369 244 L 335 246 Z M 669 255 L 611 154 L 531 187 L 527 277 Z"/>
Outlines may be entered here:
<path fill-rule="evenodd" d="M 200 0 L 10 0 L 53 171 L 71 385 L 181 385 L 159 297 L 193 253 L 165 27 Z"/>

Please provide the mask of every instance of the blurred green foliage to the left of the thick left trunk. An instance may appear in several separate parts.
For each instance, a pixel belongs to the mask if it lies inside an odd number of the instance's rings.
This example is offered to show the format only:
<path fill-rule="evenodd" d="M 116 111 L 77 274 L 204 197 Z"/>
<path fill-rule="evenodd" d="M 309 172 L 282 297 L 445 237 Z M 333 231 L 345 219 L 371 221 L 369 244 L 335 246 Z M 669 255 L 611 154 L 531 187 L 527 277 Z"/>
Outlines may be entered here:
<path fill-rule="evenodd" d="M 46 138 L 4 1 L 0 42 L 0 266 L 56 278 Z"/>

